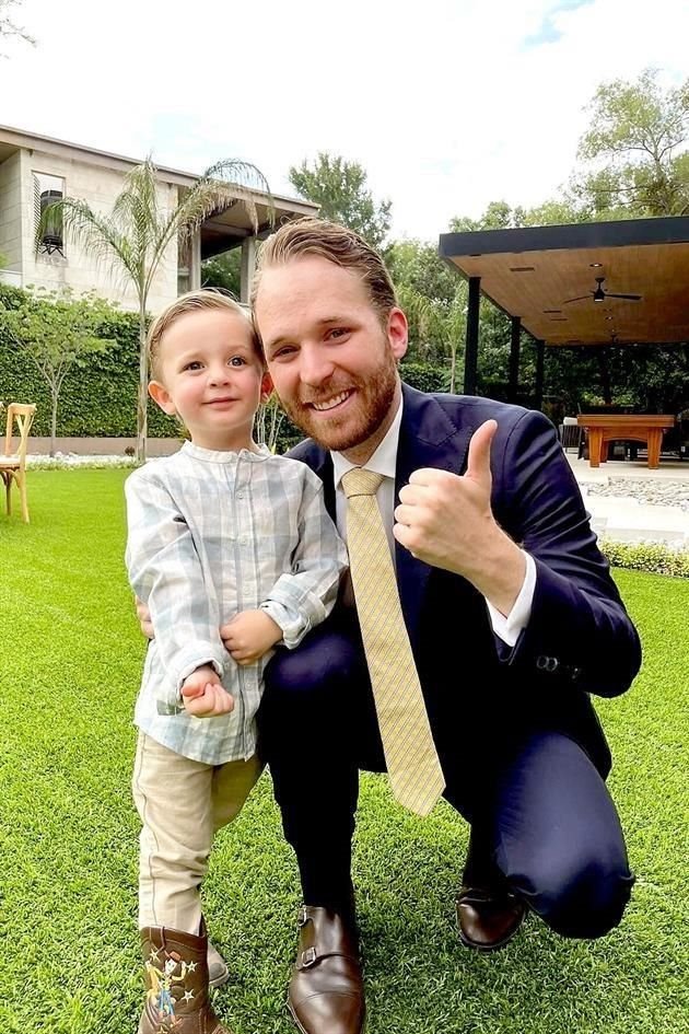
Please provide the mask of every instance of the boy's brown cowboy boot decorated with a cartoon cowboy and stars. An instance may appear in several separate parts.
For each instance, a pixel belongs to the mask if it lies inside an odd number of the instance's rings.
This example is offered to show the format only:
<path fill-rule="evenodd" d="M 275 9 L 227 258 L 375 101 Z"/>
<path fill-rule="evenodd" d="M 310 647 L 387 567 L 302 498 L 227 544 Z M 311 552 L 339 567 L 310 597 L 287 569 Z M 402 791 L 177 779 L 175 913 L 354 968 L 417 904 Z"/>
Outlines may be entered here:
<path fill-rule="evenodd" d="M 209 998 L 208 938 L 168 927 L 144 927 L 141 951 L 147 996 L 139 1034 L 231 1034 Z"/>

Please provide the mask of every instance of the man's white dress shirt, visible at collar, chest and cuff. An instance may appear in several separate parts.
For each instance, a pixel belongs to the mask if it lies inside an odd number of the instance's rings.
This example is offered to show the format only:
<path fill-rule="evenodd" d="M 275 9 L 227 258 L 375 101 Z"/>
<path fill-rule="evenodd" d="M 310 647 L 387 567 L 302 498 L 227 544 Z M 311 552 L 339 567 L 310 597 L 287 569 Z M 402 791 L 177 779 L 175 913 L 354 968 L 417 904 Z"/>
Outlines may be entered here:
<path fill-rule="evenodd" d="M 381 508 L 381 513 L 383 514 L 387 541 L 393 555 L 393 564 L 395 562 L 396 544 L 396 539 L 393 535 L 393 524 L 395 523 L 395 472 L 397 468 L 397 445 L 399 442 L 402 405 L 404 403 L 400 399 L 395 419 L 388 428 L 387 434 L 371 458 L 363 464 L 364 469 L 373 470 L 383 476 L 383 481 L 376 492 L 376 499 Z M 331 456 L 335 475 L 337 530 L 344 542 L 347 542 L 347 497 L 342 491 L 341 481 L 343 475 L 347 474 L 348 470 L 351 470 L 355 464 L 350 463 L 349 460 L 346 460 L 339 452 L 332 452 Z M 501 614 L 489 600 L 486 600 L 493 631 L 509 647 L 513 647 L 516 643 L 519 632 L 526 628 L 528 624 L 528 619 L 532 616 L 534 590 L 536 588 L 536 565 L 534 558 L 525 550 L 522 551 L 524 553 L 524 559 L 526 561 L 526 571 L 522 589 L 510 614 L 506 616 Z"/>

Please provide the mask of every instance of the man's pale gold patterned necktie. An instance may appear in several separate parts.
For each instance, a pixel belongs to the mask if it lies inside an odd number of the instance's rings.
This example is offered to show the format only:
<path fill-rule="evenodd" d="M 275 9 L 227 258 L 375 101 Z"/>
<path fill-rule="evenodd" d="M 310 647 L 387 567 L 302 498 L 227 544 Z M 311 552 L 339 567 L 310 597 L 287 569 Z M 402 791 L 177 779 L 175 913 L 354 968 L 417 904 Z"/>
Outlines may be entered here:
<path fill-rule="evenodd" d="M 347 548 L 385 762 L 396 799 L 428 815 L 445 788 L 375 493 L 382 474 L 342 476 Z"/>

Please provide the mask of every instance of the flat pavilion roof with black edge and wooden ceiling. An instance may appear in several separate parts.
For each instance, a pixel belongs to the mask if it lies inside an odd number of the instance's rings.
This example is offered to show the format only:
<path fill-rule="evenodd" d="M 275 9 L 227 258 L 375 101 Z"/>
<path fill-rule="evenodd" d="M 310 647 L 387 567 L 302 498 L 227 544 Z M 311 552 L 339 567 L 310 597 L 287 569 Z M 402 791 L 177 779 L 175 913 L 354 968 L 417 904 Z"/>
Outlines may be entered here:
<path fill-rule="evenodd" d="M 440 254 L 547 345 L 689 341 L 689 217 L 447 233 Z M 641 301 L 594 301 L 596 277 Z"/>

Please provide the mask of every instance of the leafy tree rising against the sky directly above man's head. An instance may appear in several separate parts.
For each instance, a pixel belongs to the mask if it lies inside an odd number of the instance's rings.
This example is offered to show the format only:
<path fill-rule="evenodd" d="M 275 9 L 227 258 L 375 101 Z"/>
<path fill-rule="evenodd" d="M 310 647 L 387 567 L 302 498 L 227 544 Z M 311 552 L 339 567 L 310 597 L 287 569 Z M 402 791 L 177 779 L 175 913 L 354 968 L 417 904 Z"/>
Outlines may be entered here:
<path fill-rule="evenodd" d="M 376 205 L 358 162 L 320 151 L 313 165 L 305 161 L 292 165 L 289 179 L 302 197 L 320 206 L 324 219 L 355 230 L 372 247 L 382 247 L 390 228 L 392 201 Z"/>

